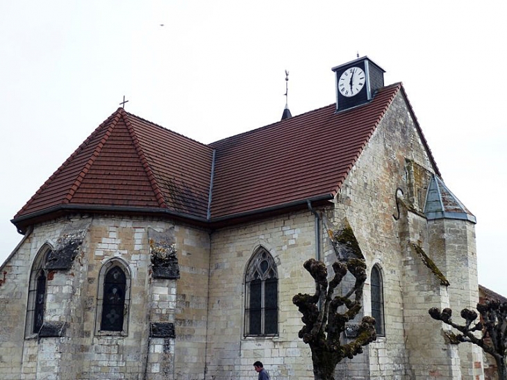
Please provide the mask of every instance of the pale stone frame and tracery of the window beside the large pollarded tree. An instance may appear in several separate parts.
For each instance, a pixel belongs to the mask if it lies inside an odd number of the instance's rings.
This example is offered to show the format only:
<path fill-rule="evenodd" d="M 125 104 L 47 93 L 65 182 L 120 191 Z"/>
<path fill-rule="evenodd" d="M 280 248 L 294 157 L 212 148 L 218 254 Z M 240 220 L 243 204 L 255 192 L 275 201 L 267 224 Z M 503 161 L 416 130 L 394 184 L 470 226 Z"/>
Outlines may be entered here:
<path fill-rule="evenodd" d="M 263 271 L 260 268 L 260 264 L 263 261 L 267 261 L 268 267 Z M 250 286 L 249 284 L 253 281 L 255 274 L 260 275 L 260 333 L 251 333 L 250 331 Z M 271 274 L 271 275 L 270 275 Z M 270 333 L 265 333 L 266 329 L 266 299 L 265 299 L 265 290 L 266 283 L 268 280 L 275 280 L 276 284 L 276 311 L 275 311 L 275 321 L 274 321 L 274 329 L 275 331 Z M 244 274 L 244 337 L 245 338 L 265 338 L 265 337 L 274 337 L 278 336 L 279 333 L 279 275 L 276 267 L 276 263 L 272 254 L 265 247 L 258 247 L 250 260 L 246 265 L 246 270 Z"/>

